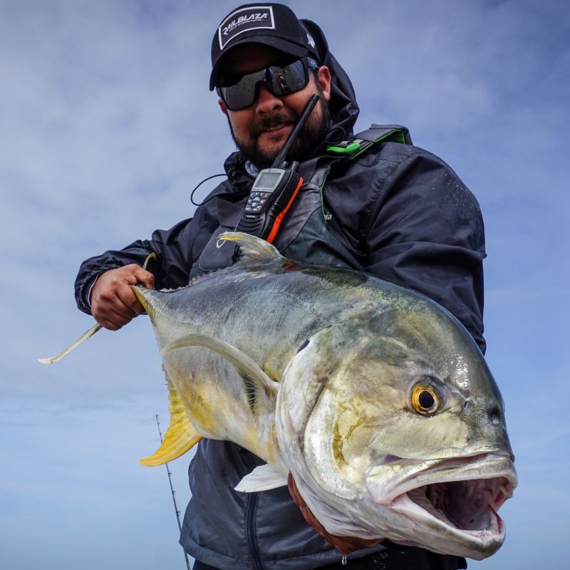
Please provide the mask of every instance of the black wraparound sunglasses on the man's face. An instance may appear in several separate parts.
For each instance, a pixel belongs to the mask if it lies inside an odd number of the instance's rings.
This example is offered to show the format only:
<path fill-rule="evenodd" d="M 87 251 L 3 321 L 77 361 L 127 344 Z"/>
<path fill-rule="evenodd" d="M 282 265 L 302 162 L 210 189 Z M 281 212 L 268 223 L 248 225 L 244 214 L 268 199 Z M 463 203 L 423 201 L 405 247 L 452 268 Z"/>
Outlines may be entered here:
<path fill-rule="evenodd" d="M 268 66 L 224 81 L 216 91 L 229 110 L 237 111 L 255 103 L 259 83 L 277 97 L 300 91 L 309 83 L 309 69 L 318 69 L 316 61 L 301 58 L 287 66 Z"/>

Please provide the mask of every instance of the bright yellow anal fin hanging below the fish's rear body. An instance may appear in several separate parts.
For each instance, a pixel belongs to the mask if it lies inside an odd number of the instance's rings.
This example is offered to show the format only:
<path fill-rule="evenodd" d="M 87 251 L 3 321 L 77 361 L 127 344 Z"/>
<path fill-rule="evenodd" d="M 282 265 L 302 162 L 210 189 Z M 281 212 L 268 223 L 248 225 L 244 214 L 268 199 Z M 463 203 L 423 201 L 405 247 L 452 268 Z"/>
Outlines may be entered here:
<path fill-rule="evenodd" d="M 163 465 L 168 461 L 175 460 L 202 439 L 202 435 L 199 435 L 190 422 L 180 400 L 180 395 L 172 385 L 166 371 L 165 377 L 168 384 L 168 399 L 170 400 L 170 425 L 168 425 L 162 445 L 150 457 L 145 457 L 139 461 L 140 465 L 145 465 L 145 467 L 155 467 L 155 465 Z"/>

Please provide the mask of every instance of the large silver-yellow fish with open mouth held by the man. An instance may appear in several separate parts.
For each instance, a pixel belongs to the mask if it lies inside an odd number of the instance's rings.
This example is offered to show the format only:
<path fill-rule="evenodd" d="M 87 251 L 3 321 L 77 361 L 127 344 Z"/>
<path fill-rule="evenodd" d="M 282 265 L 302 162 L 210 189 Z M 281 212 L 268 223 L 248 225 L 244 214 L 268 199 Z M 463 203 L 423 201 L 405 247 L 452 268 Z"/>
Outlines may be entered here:
<path fill-rule="evenodd" d="M 374 276 L 222 239 L 240 246 L 234 266 L 176 291 L 134 288 L 170 386 L 164 445 L 142 464 L 230 440 L 267 463 L 238 490 L 291 472 L 331 534 L 493 554 L 517 475 L 499 389 L 465 328 Z"/>

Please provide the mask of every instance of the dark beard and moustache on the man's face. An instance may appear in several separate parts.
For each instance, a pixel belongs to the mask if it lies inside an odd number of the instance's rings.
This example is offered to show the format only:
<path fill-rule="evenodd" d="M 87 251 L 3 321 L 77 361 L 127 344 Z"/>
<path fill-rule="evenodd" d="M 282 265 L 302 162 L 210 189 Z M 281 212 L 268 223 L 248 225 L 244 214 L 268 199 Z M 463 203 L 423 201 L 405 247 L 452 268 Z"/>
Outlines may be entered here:
<path fill-rule="evenodd" d="M 289 150 L 289 154 L 285 157 L 288 162 L 291 162 L 291 160 L 296 160 L 297 162 L 307 160 L 315 152 L 316 147 L 318 147 L 321 140 L 323 140 L 324 135 L 326 135 L 329 123 L 331 122 L 331 113 L 328 110 L 328 102 L 323 98 L 320 87 L 321 86 L 317 83 L 319 95 L 321 96 L 313 112 L 306 120 L 304 127 L 301 129 L 301 133 L 299 133 L 299 136 L 294 141 L 291 150 Z M 272 113 L 252 125 L 251 128 L 249 128 L 247 140 L 236 137 L 232 129 L 232 123 L 228 120 L 229 131 L 232 133 L 232 138 L 238 150 L 242 152 L 245 160 L 249 160 L 249 162 L 252 162 L 252 164 L 261 170 L 271 167 L 276 156 L 279 154 L 279 150 L 281 150 L 285 144 L 285 140 L 279 149 L 266 151 L 259 147 L 259 135 L 271 127 L 296 125 L 299 122 L 299 116 L 299 113 L 296 113 L 293 109 L 282 108 L 276 113 Z"/>

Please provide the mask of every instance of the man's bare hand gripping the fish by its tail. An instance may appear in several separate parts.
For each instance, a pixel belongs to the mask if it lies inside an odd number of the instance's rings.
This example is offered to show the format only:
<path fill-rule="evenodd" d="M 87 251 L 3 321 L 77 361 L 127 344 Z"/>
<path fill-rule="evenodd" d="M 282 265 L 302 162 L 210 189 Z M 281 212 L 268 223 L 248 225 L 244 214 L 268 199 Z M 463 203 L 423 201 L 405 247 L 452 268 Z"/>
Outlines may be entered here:
<path fill-rule="evenodd" d="M 145 309 L 130 288 L 138 283 L 154 289 L 155 276 L 135 264 L 100 274 L 91 289 L 91 314 L 95 320 L 110 331 L 117 331 L 135 316 L 142 315 Z"/>

